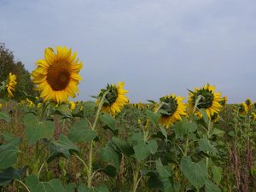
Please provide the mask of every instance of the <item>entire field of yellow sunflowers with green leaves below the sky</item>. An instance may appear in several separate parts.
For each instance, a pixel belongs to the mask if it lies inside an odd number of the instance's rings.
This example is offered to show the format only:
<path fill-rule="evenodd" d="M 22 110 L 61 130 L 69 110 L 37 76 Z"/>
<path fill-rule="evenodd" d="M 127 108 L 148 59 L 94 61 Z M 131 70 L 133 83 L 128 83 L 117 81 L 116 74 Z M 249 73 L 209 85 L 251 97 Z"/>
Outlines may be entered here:
<path fill-rule="evenodd" d="M 256 103 L 227 104 L 205 84 L 188 102 L 170 94 L 130 103 L 125 83 L 72 102 L 83 63 L 45 49 L 32 82 L 13 100 L 15 73 L 0 84 L 0 191 L 256 191 Z"/>

